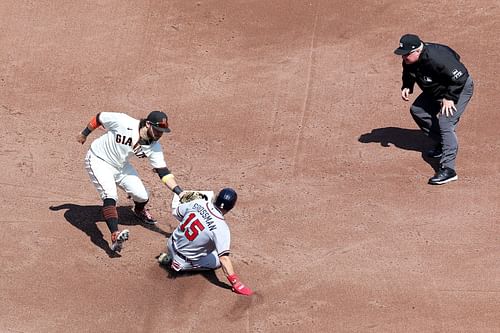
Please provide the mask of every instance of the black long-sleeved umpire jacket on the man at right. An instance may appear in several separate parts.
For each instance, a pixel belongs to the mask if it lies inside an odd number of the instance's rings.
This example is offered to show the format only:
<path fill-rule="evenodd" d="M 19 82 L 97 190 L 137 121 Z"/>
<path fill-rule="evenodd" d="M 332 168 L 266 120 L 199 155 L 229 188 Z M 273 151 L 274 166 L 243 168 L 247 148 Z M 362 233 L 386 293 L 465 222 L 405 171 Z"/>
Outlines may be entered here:
<path fill-rule="evenodd" d="M 460 56 L 446 45 L 424 43 L 417 62 L 403 61 L 403 87 L 413 92 L 415 82 L 425 94 L 440 100 L 458 102 L 458 97 L 469 77 Z"/>

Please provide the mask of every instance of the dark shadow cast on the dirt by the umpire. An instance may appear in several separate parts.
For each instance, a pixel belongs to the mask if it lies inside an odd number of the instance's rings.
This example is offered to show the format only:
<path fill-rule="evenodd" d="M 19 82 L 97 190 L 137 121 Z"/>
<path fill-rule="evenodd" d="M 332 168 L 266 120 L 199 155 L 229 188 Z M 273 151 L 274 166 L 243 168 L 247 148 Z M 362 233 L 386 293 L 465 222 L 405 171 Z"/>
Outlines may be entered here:
<path fill-rule="evenodd" d="M 382 147 L 393 145 L 400 149 L 417 151 L 435 171 L 439 169 L 439 159 L 430 158 L 425 154 L 435 143 L 419 129 L 376 128 L 370 133 L 362 134 L 358 141 L 361 143 L 380 143 Z"/>

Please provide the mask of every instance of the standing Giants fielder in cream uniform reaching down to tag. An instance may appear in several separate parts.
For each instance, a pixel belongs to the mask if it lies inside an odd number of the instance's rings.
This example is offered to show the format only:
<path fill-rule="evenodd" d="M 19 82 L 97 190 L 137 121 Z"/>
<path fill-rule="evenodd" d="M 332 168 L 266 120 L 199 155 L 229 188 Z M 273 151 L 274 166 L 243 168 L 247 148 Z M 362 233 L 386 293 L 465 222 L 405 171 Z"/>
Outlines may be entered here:
<path fill-rule="evenodd" d="M 137 218 L 144 223 L 156 223 L 145 208 L 149 195 L 137 171 L 129 163 L 130 156 L 147 158 L 160 179 L 174 193 L 182 196 L 182 189 L 167 168 L 158 142 L 163 133 L 170 132 L 165 113 L 153 111 L 146 119 L 138 120 L 124 113 L 101 112 L 78 134 L 78 142 L 84 144 L 88 135 L 99 126 L 106 133 L 92 142 L 85 157 L 85 167 L 103 201 L 102 212 L 111 232 L 110 248 L 120 252 L 123 242 L 128 240 L 129 231 L 118 230 L 117 186 L 134 200 Z"/>

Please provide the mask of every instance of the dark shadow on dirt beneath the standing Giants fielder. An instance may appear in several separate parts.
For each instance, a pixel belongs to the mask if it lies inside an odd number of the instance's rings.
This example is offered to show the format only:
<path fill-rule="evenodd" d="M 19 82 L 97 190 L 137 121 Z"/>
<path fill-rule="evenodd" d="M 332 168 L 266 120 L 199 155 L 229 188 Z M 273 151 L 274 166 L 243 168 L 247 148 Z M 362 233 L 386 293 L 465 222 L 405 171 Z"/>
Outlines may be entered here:
<path fill-rule="evenodd" d="M 65 209 L 64 218 L 66 221 L 87 234 L 87 236 L 90 237 L 90 241 L 106 252 L 110 258 L 120 257 L 118 253 L 112 251 L 109 247 L 111 245 L 110 235 L 108 234 L 104 236 L 99 228 L 97 228 L 97 222 L 105 221 L 102 216 L 102 206 L 81 206 L 66 203 L 59 206 L 50 206 L 49 209 L 52 211 Z M 135 217 L 130 207 L 117 207 L 117 211 L 120 225 L 140 225 L 153 232 L 162 234 L 165 237 L 170 236 L 170 233 L 164 231 L 156 225 L 142 223 L 139 219 L 137 219 L 137 217 Z M 109 243 L 106 239 L 109 239 Z"/>

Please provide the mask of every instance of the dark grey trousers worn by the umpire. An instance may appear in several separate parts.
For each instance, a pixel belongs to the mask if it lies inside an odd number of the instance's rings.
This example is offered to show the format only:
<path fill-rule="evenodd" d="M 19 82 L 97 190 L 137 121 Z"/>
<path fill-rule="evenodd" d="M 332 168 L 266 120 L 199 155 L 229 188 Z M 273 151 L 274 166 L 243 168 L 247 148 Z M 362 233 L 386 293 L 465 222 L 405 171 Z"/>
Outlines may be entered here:
<path fill-rule="evenodd" d="M 449 117 L 439 114 L 441 101 L 425 93 L 420 94 L 410 107 L 410 113 L 418 127 L 431 139 L 441 144 L 443 155 L 439 163 L 442 168 L 455 170 L 455 160 L 458 153 L 458 139 L 455 129 L 473 93 L 474 81 L 469 76 L 458 102 L 455 104 L 457 111 Z"/>

